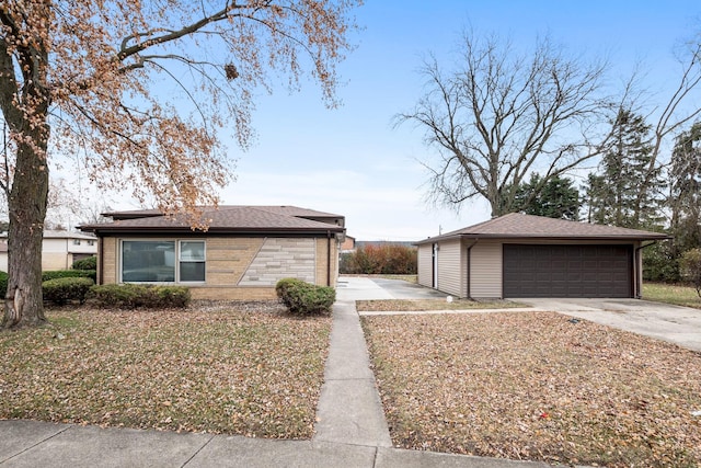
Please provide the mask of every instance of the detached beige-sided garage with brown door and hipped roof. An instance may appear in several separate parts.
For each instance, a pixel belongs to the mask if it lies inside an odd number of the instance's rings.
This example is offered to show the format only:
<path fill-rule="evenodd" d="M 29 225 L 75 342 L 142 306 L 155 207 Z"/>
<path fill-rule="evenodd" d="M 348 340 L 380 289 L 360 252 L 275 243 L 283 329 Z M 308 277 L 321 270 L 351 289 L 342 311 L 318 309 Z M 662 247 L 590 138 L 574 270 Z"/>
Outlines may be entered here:
<path fill-rule="evenodd" d="M 457 297 L 641 297 L 659 232 L 518 213 L 417 242 L 418 284 Z"/>

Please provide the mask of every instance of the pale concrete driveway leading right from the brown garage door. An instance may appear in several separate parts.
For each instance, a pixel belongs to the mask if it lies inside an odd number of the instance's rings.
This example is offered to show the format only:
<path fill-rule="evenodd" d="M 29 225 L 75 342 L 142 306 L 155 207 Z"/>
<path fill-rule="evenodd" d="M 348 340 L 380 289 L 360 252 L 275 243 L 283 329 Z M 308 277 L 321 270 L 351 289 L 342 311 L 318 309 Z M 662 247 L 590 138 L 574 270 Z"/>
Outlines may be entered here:
<path fill-rule="evenodd" d="M 701 310 L 640 299 L 510 299 L 701 352 Z"/>

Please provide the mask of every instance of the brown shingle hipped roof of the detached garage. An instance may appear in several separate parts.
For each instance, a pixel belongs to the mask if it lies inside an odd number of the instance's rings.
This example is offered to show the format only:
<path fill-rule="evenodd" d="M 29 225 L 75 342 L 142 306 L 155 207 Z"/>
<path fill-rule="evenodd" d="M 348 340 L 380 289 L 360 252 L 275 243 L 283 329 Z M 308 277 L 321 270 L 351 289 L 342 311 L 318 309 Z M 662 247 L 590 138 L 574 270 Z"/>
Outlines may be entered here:
<path fill-rule="evenodd" d="M 424 239 L 417 243 L 435 242 L 457 237 L 492 239 L 573 239 L 573 240 L 660 240 L 669 236 L 660 232 L 618 228 L 545 218 L 542 216 L 510 213 L 443 236 Z"/>

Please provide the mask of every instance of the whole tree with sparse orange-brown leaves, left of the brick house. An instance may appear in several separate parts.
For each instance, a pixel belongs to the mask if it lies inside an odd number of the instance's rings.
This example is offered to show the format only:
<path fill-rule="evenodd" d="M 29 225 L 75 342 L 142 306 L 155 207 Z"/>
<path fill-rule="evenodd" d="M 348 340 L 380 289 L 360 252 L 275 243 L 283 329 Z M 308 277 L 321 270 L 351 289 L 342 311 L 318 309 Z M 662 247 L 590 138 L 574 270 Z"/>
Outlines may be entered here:
<path fill-rule="evenodd" d="M 42 232 L 57 155 L 103 187 L 154 193 L 165 213 L 217 202 L 220 133 L 245 147 L 256 87 L 287 76 L 336 104 L 336 64 L 359 0 L 3 0 L 0 110 L 9 128 L 9 284 L 3 327 L 45 321 Z M 306 71 L 307 70 L 307 71 Z"/>

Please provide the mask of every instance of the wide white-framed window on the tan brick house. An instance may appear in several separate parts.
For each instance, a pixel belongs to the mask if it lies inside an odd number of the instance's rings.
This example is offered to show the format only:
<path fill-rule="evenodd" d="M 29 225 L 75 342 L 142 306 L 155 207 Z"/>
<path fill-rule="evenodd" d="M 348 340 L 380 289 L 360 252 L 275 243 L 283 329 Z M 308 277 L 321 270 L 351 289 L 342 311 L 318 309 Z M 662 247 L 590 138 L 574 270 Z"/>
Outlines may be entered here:
<path fill-rule="evenodd" d="M 123 283 L 205 281 L 205 241 L 122 241 Z"/>

